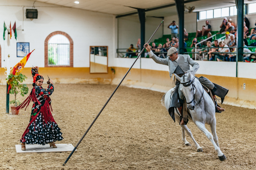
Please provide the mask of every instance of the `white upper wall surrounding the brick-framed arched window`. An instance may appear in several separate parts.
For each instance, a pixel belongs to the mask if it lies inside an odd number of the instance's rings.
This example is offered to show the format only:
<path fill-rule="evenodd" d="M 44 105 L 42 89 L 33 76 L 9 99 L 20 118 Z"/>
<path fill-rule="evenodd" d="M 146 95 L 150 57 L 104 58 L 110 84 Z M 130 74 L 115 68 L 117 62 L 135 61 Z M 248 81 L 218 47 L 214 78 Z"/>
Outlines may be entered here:
<path fill-rule="evenodd" d="M 14 34 L 10 40 L 7 31 L 6 40 L 0 38 L 2 67 L 6 65 L 4 60 L 8 54 L 11 56 L 11 66 L 22 59 L 16 57 L 16 42 L 29 42 L 30 51 L 36 49 L 25 67 L 32 65 L 44 67 L 44 41 L 50 33 L 55 31 L 63 31 L 73 39 L 74 67 L 89 67 L 90 45 L 108 46 L 108 56 L 113 58 L 115 55 L 113 31 L 115 16 L 35 2 L 38 19 L 26 19 L 26 9 L 31 9 L 33 3 L 27 0 L 0 1 L 0 23 L 3 24 L 5 21 L 8 27 L 10 21 L 11 26 L 16 21 L 17 28 L 17 41 L 14 39 Z M 25 6 L 24 13 L 22 13 L 22 6 Z M 24 16 L 24 22 L 22 22 L 22 16 Z M 2 27 L 1 33 L 3 33 Z"/>

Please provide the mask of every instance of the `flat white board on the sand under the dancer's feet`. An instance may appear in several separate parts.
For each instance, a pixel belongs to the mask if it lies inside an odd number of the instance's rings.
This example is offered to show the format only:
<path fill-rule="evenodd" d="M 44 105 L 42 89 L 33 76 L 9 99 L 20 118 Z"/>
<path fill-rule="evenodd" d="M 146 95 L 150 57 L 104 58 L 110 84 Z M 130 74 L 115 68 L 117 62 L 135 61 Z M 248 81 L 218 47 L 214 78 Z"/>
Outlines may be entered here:
<path fill-rule="evenodd" d="M 26 150 L 21 150 L 21 145 L 15 145 L 17 153 L 29 153 L 29 152 L 69 152 L 74 149 L 72 144 L 55 144 L 57 148 L 50 147 L 49 144 L 45 145 L 26 145 Z M 77 150 L 76 150 L 77 151 Z"/>

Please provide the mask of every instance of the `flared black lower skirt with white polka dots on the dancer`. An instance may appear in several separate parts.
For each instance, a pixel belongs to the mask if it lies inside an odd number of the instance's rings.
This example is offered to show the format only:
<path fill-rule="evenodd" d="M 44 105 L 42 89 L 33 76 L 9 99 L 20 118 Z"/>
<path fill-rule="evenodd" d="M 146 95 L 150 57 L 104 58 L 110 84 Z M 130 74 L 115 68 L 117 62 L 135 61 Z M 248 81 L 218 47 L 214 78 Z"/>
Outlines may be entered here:
<path fill-rule="evenodd" d="M 38 114 L 36 120 L 29 126 L 28 133 L 25 134 L 26 144 L 42 144 L 62 140 L 60 128 L 54 122 L 45 123 L 41 113 Z M 21 140 L 20 140 L 21 142 Z"/>

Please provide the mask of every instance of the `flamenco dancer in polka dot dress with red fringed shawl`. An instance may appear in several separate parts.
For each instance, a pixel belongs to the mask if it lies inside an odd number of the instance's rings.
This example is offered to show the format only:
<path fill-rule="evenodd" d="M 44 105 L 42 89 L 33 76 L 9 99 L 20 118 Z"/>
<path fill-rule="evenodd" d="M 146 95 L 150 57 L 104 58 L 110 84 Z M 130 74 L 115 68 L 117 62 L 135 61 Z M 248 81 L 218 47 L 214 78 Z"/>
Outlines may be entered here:
<path fill-rule="evenodd" d="M 21 150 L 26 150 L 25 144 L 50 144 L 50 147 L 57 148 L 54 144 L 57 140 L 62 140 L 62 133 L 52 116 L 52 107 L 50 95 L 53 93 L 54 86 L 51 79 L 47 89 L 42 88 L 44 82 L 43 76 L 38 74 L 38 66 L 32 67 L 33 89 L 28 98 L 18 106 L 17 110 L 28 107 L 33 101 L 30 121 L 28 127 L 23 133 L 20 142 Z M 25 108 L 25 110 L 26 110 Z"/>

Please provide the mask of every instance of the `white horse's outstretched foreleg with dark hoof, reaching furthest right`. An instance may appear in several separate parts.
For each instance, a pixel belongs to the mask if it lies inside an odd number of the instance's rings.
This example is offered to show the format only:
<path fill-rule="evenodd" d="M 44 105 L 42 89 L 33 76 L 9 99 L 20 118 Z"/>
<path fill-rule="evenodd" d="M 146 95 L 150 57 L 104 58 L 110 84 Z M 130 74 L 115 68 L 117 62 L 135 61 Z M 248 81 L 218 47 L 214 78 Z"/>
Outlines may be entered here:
<path fill-rule="evenodd" d="M 204 132 L 204 134 L 207 136 L 207 138 L 212 142 L 215 150 L 218 153 L 218 157 L 221 161 L 225 161 L 226 160 L 226 156 L 221 152 L 220 148 L 217 146 L 217 144 L 215 143 L 215 141 L 213 140 L 213 136 L 212 134 L 205 128 L 204 123 L 201 123 L 199 121 L 194 121 L 195 125 L 202 131 Z"/>

